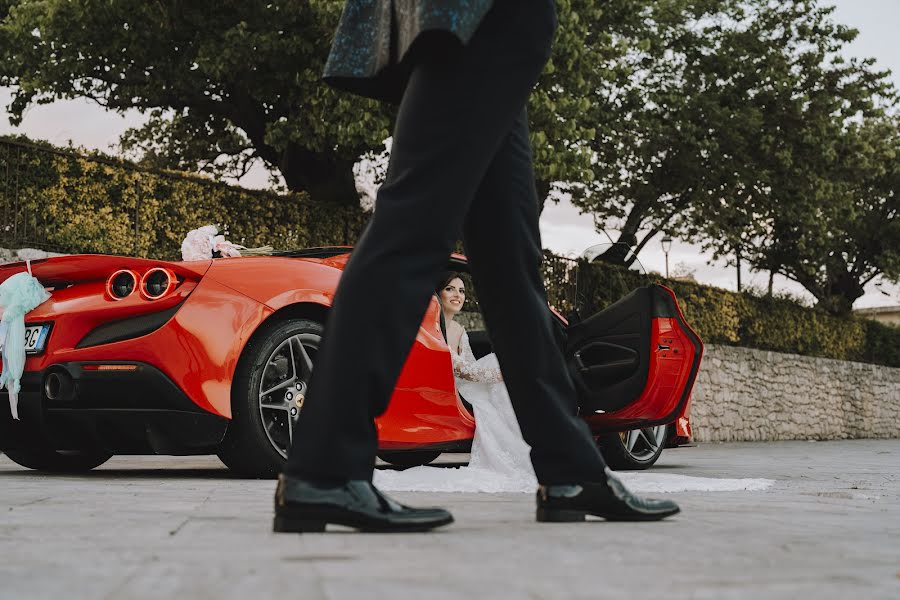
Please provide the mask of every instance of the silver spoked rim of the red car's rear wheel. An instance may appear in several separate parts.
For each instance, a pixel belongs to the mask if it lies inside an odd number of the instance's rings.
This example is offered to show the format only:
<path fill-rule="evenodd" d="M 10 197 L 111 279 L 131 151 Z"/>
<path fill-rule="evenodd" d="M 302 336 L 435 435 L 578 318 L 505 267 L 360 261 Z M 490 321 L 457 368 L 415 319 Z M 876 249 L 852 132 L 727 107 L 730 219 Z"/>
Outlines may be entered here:
<path fill-rule="evenodd" d="M 278 345 L 259 380 L 259 416 L 272 447 L 283 458 L 294 441 L 294 427 L 303 409 L 313 361 L 321 336 L 293 335 Z"/>

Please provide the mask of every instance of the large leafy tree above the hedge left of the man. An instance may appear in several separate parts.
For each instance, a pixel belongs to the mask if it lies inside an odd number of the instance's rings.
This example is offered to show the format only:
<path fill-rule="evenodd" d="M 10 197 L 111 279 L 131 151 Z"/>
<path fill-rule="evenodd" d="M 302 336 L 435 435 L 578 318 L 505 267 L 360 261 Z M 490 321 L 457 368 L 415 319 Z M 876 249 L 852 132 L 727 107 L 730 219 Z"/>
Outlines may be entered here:
<path fill-rule="evenodd" d="M 240 175 L 254 160 L 314 199 L 359 201 L 353 164 L 390 109 L 320 83 L 342 2 L 0 0 L 0 85 L 32 103 L 88 98 L 149 113 L 148 164 Z"/>

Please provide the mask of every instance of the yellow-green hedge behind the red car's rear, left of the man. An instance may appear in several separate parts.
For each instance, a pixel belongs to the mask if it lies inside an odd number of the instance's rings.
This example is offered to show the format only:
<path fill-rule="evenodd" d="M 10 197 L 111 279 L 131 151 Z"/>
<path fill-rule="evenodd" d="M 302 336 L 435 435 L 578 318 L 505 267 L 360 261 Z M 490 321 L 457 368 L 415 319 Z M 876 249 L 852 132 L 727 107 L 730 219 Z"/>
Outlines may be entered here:
<path fill-rule="evenodd" d="M 247 190 L 0 138 L 0 218 L 7 243 L 173 259 L 185 234 L 201 225 L 218 224 L 245 246 L 290 249 L 352 244 L 368 215 L 305 194 Z"/>

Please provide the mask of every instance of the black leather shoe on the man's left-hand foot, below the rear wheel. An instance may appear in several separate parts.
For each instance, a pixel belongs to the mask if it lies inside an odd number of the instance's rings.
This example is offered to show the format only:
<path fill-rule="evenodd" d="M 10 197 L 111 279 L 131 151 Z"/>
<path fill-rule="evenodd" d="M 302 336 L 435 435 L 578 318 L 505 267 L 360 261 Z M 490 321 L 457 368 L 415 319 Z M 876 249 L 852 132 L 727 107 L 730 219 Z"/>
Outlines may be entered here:
<path fill-rule="evenodd" d="M 403 506 L 365 480 L 329 486 L 282 473 L 275 489 L 273 530 L 281 533 L 325 531 L 328 523 L 362 531 L 427 531 L 452 522 L 442 508 Z"/>

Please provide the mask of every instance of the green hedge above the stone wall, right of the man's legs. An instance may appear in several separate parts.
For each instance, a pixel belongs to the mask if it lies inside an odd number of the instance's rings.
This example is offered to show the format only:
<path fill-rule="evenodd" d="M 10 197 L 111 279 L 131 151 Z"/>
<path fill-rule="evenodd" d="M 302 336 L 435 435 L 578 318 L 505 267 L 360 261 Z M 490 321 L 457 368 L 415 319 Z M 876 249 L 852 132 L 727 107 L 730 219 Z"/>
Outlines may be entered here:
<path fill-rule="evenodd" d="M 545 256 L 544 275 L 554 306 L 582 315 L 608 306 L 630 290 L 655 282 L 672 288 L 685 319 L 707 344 L 727 344 L 806 356 L 900 367 L 900 328 L 869 319 L 842 319 L 784 298 L 729 292 L 607 263 Z"/>

